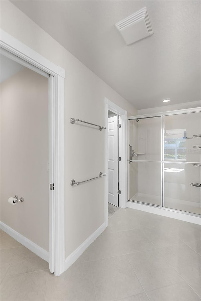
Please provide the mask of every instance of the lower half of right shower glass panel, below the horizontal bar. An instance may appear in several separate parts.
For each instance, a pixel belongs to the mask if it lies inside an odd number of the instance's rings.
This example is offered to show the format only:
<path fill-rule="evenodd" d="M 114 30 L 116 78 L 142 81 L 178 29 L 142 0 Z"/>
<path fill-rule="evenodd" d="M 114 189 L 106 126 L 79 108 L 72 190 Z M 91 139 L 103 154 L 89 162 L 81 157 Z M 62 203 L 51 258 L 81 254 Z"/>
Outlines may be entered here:
<path fill-rule="evenodd" d="M 164 207 L 201 214 L 201 164 L 163 164 Z"/>

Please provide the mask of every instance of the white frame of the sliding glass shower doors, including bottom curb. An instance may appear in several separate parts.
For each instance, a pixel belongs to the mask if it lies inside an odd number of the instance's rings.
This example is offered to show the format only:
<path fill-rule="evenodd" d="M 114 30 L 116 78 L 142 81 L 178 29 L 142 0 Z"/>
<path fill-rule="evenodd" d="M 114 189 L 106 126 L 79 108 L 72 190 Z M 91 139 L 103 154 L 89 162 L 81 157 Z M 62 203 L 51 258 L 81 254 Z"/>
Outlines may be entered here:
<path fill-rule="evenodd" d="M 197 108 L 188 108 L 188 109 L 181 109 L 181 110 L 174 110 L 174 111 L 167 111 L 167 112 L 160 112 L 156 114 L 143 114 L 143 115 L 135 115 L 135 116 L 129 116 L 127 118 L 128 124 L 127 124 L 127 129 L 128 129 L 128 143 L 127 143 L 127 207 L 129 208 L 135 208 L 139 210 L 144 210 L 147 212 L 155 213 L 155 214 L 160 214 L 168 217 L 174 217 L 176 219 L 181 219 L 181 220 L 187 220 L 191 221 L 193 223 L 198 223 L 200 224 L 200 214 L 195 214 L 195 213 L 190 213 L 190 212 L 185 212 L 177 209 L 171 209 L 164 207 L 164 172 L 163 172 L 163 164 L 164 163 L 172 163 L 172 161 L 164 161 L 164 147 L 163 147 L 163 133 L 164 133 L 164 116 L 168 115 L 178 115 L 178 114 L 186 114 L 186 113 L 196 113 L 196 112 L 201 112 L 201 107 Z M 161 118 L 161 182 L 160 182 L 160 206 L 158 205 L 152 205 L 148 203 L 143 203 L 143 202 L 138 202 L 138 201 L 133 201 L 129 200 L 129 120 L 133 119 L 146 119 L 146 118 L 154 118 L 154 117 L 160 117 Z M 138 162 L 136 160 L 135 162 Z M 150 162 L 149 160 L 139 160 L 139 162 Z M 156 162 L 156 161 L 153 161 Z M 195 162 L 178 162 L 178 163 L 195 163 Z M 198 162 L 200 163 L 200 162 Z M 174 164 L 177 164 L 174 162 Z M 174 216 L 172 216 L 172 214 Z M 188 218 L 189 217 L 189 218 Z"/>

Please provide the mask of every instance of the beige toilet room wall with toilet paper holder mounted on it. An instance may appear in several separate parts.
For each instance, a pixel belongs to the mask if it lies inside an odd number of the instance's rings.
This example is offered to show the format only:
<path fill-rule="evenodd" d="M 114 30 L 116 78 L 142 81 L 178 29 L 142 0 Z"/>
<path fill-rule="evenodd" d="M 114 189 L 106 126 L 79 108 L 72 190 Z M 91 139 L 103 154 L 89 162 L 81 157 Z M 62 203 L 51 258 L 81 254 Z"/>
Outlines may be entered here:
<path fill-rule="evenodd" d="M 1 83 L 1 221 L 46 251 L 47 162 L 48 79 L 24 68 Z"/>

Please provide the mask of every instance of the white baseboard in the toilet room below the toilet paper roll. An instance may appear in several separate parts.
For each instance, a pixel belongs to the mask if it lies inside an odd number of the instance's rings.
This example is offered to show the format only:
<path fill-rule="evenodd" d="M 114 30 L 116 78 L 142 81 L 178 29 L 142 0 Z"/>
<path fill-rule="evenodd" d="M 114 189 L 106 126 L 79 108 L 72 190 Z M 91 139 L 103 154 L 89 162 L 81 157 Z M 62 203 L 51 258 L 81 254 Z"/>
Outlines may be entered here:
<path fill-rule="evenodd" d="M 49 252 L 41 248 L 40 246 L 36 245 L 33 241 L 29 240 L 25 236 L 21 235 L 14 229 L 10 228 L 6 224 L 0 221 L 0 229 L 6 232 L 8 235 L 13 237 L 17 240 L 20 244 L 25 246 L 30 251 L 34 252 L 36 255 L 44 259 L 45 261 L 49 262 Z"/>

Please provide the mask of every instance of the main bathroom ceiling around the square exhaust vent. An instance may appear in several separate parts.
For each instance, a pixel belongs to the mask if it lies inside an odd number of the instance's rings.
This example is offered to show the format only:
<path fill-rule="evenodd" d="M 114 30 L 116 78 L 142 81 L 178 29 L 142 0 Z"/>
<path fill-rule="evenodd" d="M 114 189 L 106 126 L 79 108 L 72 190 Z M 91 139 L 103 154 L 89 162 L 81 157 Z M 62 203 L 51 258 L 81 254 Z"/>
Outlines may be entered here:
<path fill-rule="evenodd" d="M 200 1 L 11 2 L 137 109 L 200 100 Z M 114 25 L 143 7 L 154 34 L 127 46 Z"/>

